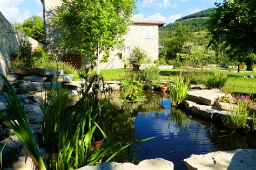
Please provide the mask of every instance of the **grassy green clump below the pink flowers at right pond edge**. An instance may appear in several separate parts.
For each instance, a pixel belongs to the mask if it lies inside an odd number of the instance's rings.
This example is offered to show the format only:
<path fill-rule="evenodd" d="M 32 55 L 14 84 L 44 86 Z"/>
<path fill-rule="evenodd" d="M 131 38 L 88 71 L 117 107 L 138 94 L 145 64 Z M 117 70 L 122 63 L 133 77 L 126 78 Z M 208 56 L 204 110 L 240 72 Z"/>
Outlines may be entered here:
<path fill-rule="evenodd" d="M 237 104 L 237 108 L 222 117 L 223 122 L 229 128 L 246 128 L 250 107 L 248 107 L 248 102 L 246 101 L 237 101 Z"/>

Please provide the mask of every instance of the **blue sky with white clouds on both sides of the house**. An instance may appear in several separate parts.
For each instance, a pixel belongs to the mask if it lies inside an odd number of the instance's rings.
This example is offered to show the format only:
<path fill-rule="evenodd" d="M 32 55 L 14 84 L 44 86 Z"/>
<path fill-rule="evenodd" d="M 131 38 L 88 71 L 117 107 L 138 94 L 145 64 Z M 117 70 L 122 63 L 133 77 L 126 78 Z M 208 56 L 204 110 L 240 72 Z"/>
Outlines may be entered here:
<path fill-rule="evenodd" d="M 51 1 L 51 0 L 46 0 Z M 161 20 L 172 23 L 180 17 L 214 7 L 214 2 L 222 0 L 140 0 L 139 13 L 134 18 Z M 12 22 L 22 23 L 32 15 L 43 16 L 40 0 L 0 0 L 0 11 Z"/>

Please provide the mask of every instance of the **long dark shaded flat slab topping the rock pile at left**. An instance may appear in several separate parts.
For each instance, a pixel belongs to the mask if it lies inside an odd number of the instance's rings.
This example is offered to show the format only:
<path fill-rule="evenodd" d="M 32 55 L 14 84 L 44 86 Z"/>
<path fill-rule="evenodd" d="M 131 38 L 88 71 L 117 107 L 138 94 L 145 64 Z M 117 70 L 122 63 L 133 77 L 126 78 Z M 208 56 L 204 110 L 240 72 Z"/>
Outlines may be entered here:
<path fill-rule="evenodd" d="M 58 70 L 59 75 L 64 75 L 63 70 Z M 15 68 L 15 74 L 21 75 L 38 75 L 38 76 L 50 76 L 50 75 L 57 75 L 57 70 L 55 69 L 44 69 L 44 68 Z"/>

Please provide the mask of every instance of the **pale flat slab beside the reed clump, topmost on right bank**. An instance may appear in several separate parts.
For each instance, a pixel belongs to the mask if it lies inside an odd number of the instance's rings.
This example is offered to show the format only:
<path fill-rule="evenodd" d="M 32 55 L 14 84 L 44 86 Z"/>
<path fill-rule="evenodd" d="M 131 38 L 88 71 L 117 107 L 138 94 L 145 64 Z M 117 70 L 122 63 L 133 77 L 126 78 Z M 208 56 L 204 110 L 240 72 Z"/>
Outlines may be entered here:
<path fill-rule="evenodd" d="M 217 89 L 188 91 L 188 100 L 213 105 L 218 97 L 225 96 L 225 93 Z"/>

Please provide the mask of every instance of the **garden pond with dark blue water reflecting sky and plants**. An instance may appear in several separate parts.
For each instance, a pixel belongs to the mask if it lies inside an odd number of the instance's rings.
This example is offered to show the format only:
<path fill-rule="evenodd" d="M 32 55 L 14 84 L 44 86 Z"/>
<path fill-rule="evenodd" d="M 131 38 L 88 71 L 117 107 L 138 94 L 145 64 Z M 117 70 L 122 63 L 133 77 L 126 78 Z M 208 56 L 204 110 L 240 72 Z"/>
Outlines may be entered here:
<path fill-rule="evenodd" d="M 186 169 L 183 162 L 191 154 L 256 148 L 256 136 L 237 133 L 196 118 L 184 110 L 171 108 L 168 98 L 159 93 L 145 92 L 147 101 L 134 104 L 119 102 L 112 96 L 104 122 L 112 125 L 107 134 L 120 141 L 156 137 L 131 148 L 136 160 L 163 158 L 173 162 L 176 169 Z"/>

